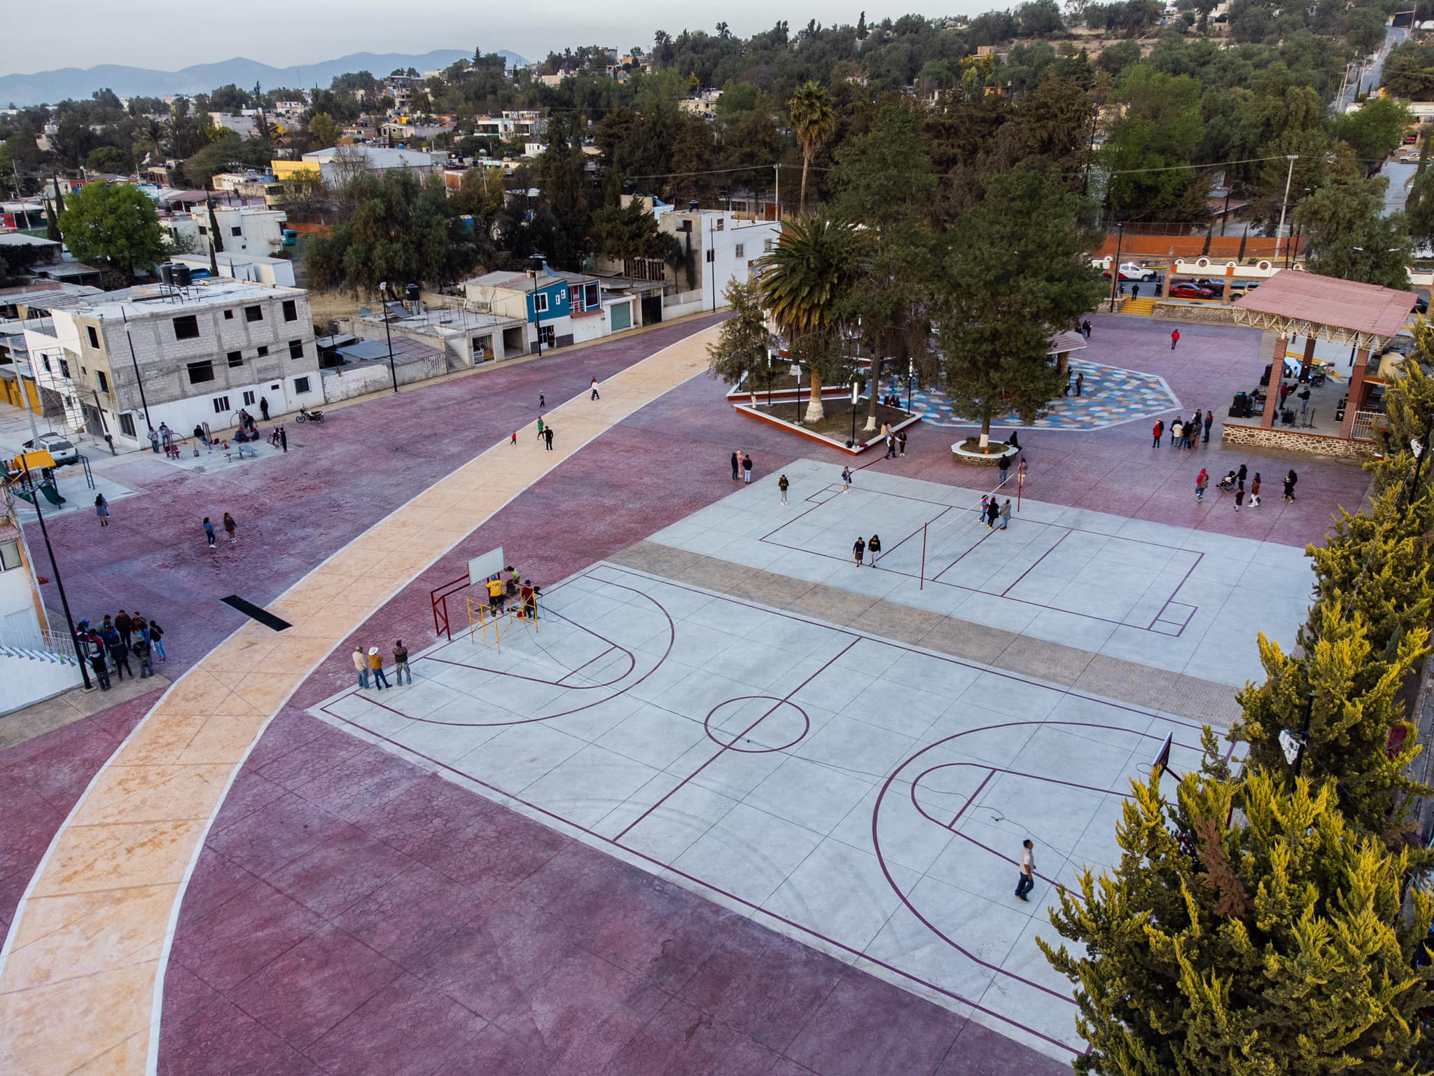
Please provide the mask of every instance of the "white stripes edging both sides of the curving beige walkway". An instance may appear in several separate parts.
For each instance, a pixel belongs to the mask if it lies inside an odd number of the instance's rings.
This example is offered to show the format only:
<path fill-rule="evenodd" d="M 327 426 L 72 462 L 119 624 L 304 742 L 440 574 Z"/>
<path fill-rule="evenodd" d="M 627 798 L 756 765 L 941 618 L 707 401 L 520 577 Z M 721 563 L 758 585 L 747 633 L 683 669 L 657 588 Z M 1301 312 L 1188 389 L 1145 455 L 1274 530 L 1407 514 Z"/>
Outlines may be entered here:
<path fill-rule="evenodd" d="M 688 336 L 681 337 L 680 340 L 674 340 L 673 343 L 670 343 L 665 347 L 654 351 L 650 356 L 645 356 L 644 359 L 640 359 L 638 362 L 632 363 L 631 366 L 625 366 L 621 372 L 618 372 L 617 374 L 614 374 L 612 377 L 609 377 L 608 382 L 611 382 L 614 379 L 618 379 L 618 377 L 621 377 L 622 374 L 625 374 L 625 373 L 628 373 L 631 370 L 637 370 L 638 367 L 644 366 L 645 363 L 650 363 L 650 362 L 658 359 L 660 356 L 663 356 L 664 353 L 670 351 L 671 349 L 678 347 L 680 344 L 684 344 L 684 343 L 693 340 L 694 337 L 701 336 L 706 331 L 710 331 L 711 329 L 713 327 L 701 329 L 701 330 L 698 330 L 695 333 L 690 333 Z M 515 499 L 518 499 L 525 492 L 528 492 L 533 485 L 536 485 L 543 478 L 546 478 L 554 471 L 556 471 L 558 466 L 561 466 L 564 461 L 566 461 L 571 456 L 576 455 L 584 448 L 587 448 L 594 440 L 597 440 L 604 433 L 607 433 L 614 426 L 617 426 L 618 422 L 621 422 L 622 419 L 630 417 L 631 415 L 637 413 L 638 410 L 641 410 L 642 407 L 648 406 L 654 400 L 661 399 L 663 396 L 665 396 L 673 389 L 678 387 L 680 384 L 685 384 L 693 377 L 697 377 L 701 373 L 706 373 L 706 370 L 694 372 L 688 377 L 684 377 L 683 380 L 680 380 L 680 382 L 668 386 L 667 389 L 664 389 L 657 396 L 645 397 L 640 403 L 637 403 L 635 406 L 630 407 L 619 417 L 614 419 L 609 425 L 604 426 L 602 429 L 599 429 L 598 432 L 595 432 L 592 436 L 589 436 L 587 440 L 581 442 L 579 445 L 576 445 L 575 448 L 572 448 L 569 452 L 566 452 L 559 461 L 555 462 L 555 465 L 552 468 L 548 468 L 546 471 L 543 471 L 542 475 L 539 475 L 536 479 L 533 479 L 533 482 L 529 482 L 522 489 L 518 489 L 516 492 L 513 492 L 506 501 L 503 501 L 502 505 L 499 505 L 498 508 L 495 508 L 493 512 L 490 512 L 486 516 L 483 516 L 483 519 L 475 522 L 473 528 L 469 531 L 469 535 L 472 535 L 473 531 L 476 531 L 479 527 L 482 527 L 489 519 L 492 519 L 493 515 L 496 515 L 499 511 L 502 511 L 509 504 L 512 504 Z M 587 392 L 588 392 L 587 389 L 581 390 L 579 393 L 576 393 L 571 399 L 565 400 L 562 405 L 559 405 L 554 410 L 561 410 L 568 403 L 574 403 L 574 402 L 581 400 Z M 347 542 L 344 542 L 340 548 L 334 549 L 334 552 L 331 552 L 328 557 L 326 557 L 314 568 L 310 568 L 304 575 L 301 575 L 298 580 L 295 580 L 293 584 L 290 584 L 290 587 L 284 591 L 284 594 L 278 595 L 278 598 L 275 598 L 275 601 L 281 601 L 284 597 L 288 595 L 288 593 L 291 590 L 294 590 L 294 587 L 300 585 L 310 575 L 313 575 L 320 568 L 323 568 L 326 564 L 328 564 L 330 561 L 333 561 L 336 557 L 338 557 L 340 554 L 343 554 L 344 551 L 347 551 L 348 547 L 351 547 L 354 542 L 360 541 L 364 535 L 370 534 L 376 527 L 383 525 L 386 521 L 389 521 L 390 518 L 393 518 L 396 514 L 404 511 L 409 505 L 412 505 L 420 496 L 423 496 L 424 494 L 427 494 L 430 489 L 435 489 L 435 488 L 443 485 L 453 475 L 462 473 L 463 471 L 466 471 L 467 468 L 473 466 L 480 459 L 483 459 L 483 456 L 486 456 L 489 452 L 496 450 L 499 446 L 502 446 L 505 443 L 506 443 L 506 440 L 495 442 L 492 446 L 489 446 L 483 452 L 480 452 L 476 456 L 473 456 L 473 459 L 470 459 L 467 463 L 465 463 L 457 471 L 449 472 L 447 475 L 445 475 L 443 478 L 440 478 L 437 482 L 433 482 L 432 485 L 429 485 L 429 486 L 420 489 L 419 492 L 416 492 L 413 496 L 410 496 L 402 505 L 399 505 L 397 508 L 394 508 L 393 511 L 390 511 L 381 519 L 377 519 L 370 527 L 364 528 L 363 532 L 354 535 Z M 467 535 L 465 535 L 465 538 L 460 538 L 459 542 L 466 541 L 466 538 L 467 538 Z M 366 617 L 366 620 L 370 618 L 370 617 L 373 617 L 384 605 L 387 605 L 390 601 L 393 601 L 393 598 L 397 594 L 400 594 L 414 578 L 419 578 L 424 571 L 427 571 L 435 564 L 437 564 L 437 561 L 440 561 L 443 557 L 446 557 L 449 552 L 452 552 L 453 548 L 456 548 L 456 545 L 457 544 L 455 544 L 455 545 L 443 549 L 442 552 L 439 552 L 437 555 L 435 555 L 433 558 L 430 558 L 422 568 L 419 568 L 416 572 L 413 572 L 413 575 L 409 580 L 406 580 L 404 582 L 402 582 L 402 584 L 390 588 L 387 591 L 387 594 L 380 601 L 377 601 L 374 604 L 373 613 L 370 613 Z M 215 650 L 218 650 L 225 643 L 228 643 L 229 640 L 232 640 L 245 627 L 248 627 L 248 624 L 241 624 L 238 628 L 235 628 L 234 631 L 231 631 L 219 643 L 217 643 L 209 650 L 209 653 L 212 654 Z M 356 626 L 356 628 L 357 627 L 360 627 L 360 626 Z M 158 963 L 158 967 L 155 970 L 155 987 L 153 987 L 153 996 L 152 996 L 153 1000 L 151 1003 L 152 1004 L 152 1011 L 151 1011 L 151 1021 L 149 1021 L 149 1047 L 148 1047 L 148 1059 L 146 1059 L 146 1065 L 145 1065 L 145 1072 L 148 1073 L 148 1076 L 156 1076 L 158 1067 L 159 1067 L 159 1020 L 161 1020 L 161 1014 L 163 1011 L 165 971 L 169 967 L 169 954 L 171 954 L 171 951 L 174 948 L 175 928 L 176 928 L 176 925 L 179 922 L 179 910 L 184 905 L 184 897 L 185 897 L 185 894 L 189 889 L 189 879 L 194 877 L 194 869 L 195 869 L 195 865 L 199 861 L 199 854 L 204 851 L 204 845 L 205 845 L 205 841 L 208 839 L 209 831 L 214 828 L 214 819 L 218 816 L 219 808 L 224 806 L 224 799 L 228 796 L 229 789 L 234 786 L 234 780 L 238 778 L 239 770 L 244 769 L 244 763 L 248 760 L 250 755 L 254 752 L 254 747 L 258 745 L 260 739 L 268 730 L 268 726 L 274 720 L 275 714 L 278 714 L 288 704 L 290 699 L 293 699 L 293 696 L 294 696 L 294 692 L 297 692 L 304 684 L 304 681 L 307 681 L 308 677 L 314 674 L 314 670 L 320 664 L 323 664 L 328 659 L 328 656 L 331 653 L 333 653 L 333 650 L 330 650 L 323 657 L 320 657 L 317 661 L 314 661 L 308 667 L 308 670 L 305 673 L 303 673 L 297 679 L 294 689 L 287 696 L 284 696 L 284 700 L 274 709 L 274 713 L 271 713 L 264 720 L 264 725 L 260 726 L 260 730 L 255 733 L 254 740 L 250 743 L 248 750 L 244 752 L 244 758 L 239 759 L 238 763 L 235 763 L 234 770 L 229 773 L 229 780 L 224 786 L 224 795 L 219 796 L 215 801 L 214 809 L 209 812 L 209 816 L 204 821 L 202 832 L 199 835 L 199 839 L 195 842 L 194 854 L 189 858 L 189 865 L 185 868 L 184 878 L 179 881 L 179 889 L 175 894 L 174 907 L 169 910 L 169 922 L 165 927 L 165 940 L 163 940 L 163 945 L 162 945 L 161 953 L 159 953 L 159 963 Z M 205 657 L 208 657 L 208 654 Z M 75 802 L 75 806 L 70 808 L 69 813 L 65 816 L 65 821 L 60 823 L 60 826 L 54 831 L 54 836 L 50 838 L 49 848 L 44 849 L 44 855 L 40 858 L 40 862 L 36 867 L 34 874 L 30 875 L 30 881 L 24 887 L 24 892 L 22 894 L 20 901 L 16 904 L 14 917 L 10 921 L 10 930 L 6 933 L 4 945 L 0 947 L 0 981 L 3 981 L 4 970 L 6 970 L 6 966 L 9 963 L 9 957 L 10 957 L 10 950 L 13 947 L 13 944 L 14 944 L 14 938 L 19 934 L 20 922 L 24 918 L 24 911 L 26 911 L 26 908 L 27 908 L 27 905 L 30 902 L 30 898 L 32 898 L 32 894 L 34 891 L 34 887 L 39 882 L 39 879 L 43 877 L 44 869 L 46 869 L 46 867 L 50 862 L 50 856 L 54 854 L 54 849 L 59 846 L 60 838 L 69 829 L 69 826 L 75 821 L 75 818 L 79 815 L 80 809 L 85 806 L 86 801 L 90 796 L 90 792 L 93 792 L 93 789 L 99 783 L 100 778 L 105 776 L 105 773 L 108 773 L 108 770 L 110 768 L 110 763 L 115 760 L 115 758 L 129 745 L 129 742 L 135 737 L 135 735 L 145 726 L 145 723 L 149 720 L 149 717 L 155 713 L 155 710 L 163 703 L 163 700 L 169 697 L 169 693 L 174 692 L 175 687 L 178 687 L 179 683 L 182 683 L 185 680 L 185 677 L 189 676 L 189 673 L 192 673 L 195 669 L 199 669 L 202 666 L 204 660 L 205 659 L 199 659 L 194 666 L 191 666 L 189 671 L 186 671 L 178 680 L 172 681 L 169 684 L 169 687 L 165 689 L 165 693 L 155 702 L 155 704 L 149 707 L 149 712 L 143 717 L 141 717 L 139 722 L 135 723 L 135 727 L 129 730 L 129 735 L 123 739 L 123 742 L 110 753 L 109 759 L 105 760 L 105 765 L 100 766 L 95 772 L 95 776 L 90 778 L 89 783 L 85 786 L 85 792 Z"/>

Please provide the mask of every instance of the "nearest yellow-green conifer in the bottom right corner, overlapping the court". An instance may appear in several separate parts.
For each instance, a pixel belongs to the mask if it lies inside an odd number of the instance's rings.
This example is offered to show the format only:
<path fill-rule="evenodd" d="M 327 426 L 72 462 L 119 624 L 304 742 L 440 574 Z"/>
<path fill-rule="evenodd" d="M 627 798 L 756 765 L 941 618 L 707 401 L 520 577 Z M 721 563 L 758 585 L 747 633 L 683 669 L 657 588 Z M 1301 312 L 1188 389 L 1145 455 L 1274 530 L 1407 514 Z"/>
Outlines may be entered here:
<path fill-rule="evenodd" d="M 1051 922 L 1083 950 L 1038 940 L 1076 984 L 1076 1072 L 1427 1072 L 1434 996 L 1414 955 L 1434 898 L 1415 888 L 1400 914 L 1408 856 L 1351 832 L 1332 782 L 1232 780 L 1207 729 L 1205 745 L 1173 803 L 1159 773 L 1131 782 L 1119 867 L 1060 892 Z"/>

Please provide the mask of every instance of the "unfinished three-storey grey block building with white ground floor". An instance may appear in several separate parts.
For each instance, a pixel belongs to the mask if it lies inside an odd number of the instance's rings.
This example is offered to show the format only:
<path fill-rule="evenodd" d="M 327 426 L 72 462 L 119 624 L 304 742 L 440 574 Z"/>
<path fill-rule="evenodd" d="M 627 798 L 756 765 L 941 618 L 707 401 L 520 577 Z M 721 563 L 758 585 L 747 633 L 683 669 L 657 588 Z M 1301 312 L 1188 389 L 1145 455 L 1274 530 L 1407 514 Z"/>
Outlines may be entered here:
<path fill-rule="evenodd" d="M 143 448 L 161 422 L 188 435 L 196 423 L 235 425 L 235 412 L 257 412 L 261 397 L 275 415 L 323 403 L 308 294 L 298 288 L 201 280 L 30 308 L 47 310 L 24 326 L 34 379 L 46 412 L 63 413 L 72 430 Z"/>

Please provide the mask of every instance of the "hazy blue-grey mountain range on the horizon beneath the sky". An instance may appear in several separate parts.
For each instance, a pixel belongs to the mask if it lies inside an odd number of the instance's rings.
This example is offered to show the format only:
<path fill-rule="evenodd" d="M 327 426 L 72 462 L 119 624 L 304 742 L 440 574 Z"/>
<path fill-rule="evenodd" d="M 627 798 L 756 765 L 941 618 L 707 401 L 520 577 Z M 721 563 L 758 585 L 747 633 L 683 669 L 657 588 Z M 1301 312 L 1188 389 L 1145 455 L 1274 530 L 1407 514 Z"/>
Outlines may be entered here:
<path fill-rule="evenodd" d="M 215 86 L 224 86 L 229 82 L 244 89 L 252 88 L 255 82 L 265 89 L 280 86 L 320 86 L 323 89 L 337 75 L 346 72 L 367 70 L 381 79 L 396 67 L 416 67 L 420 72 L 437 70 L 472 55 L 472 52 L 460 49 L 435 49 L 422 56 L 357 52 L 351 56 L 340 56 L 337 60 L 295 67 L 271 67 L 242 56 L 222 63 L 196 63 L 181 70 L 151 70 L 149 67 L 123 67 L 110 63 L 85 69 L 62 67 L 34 75 L 0 75 L 0 105 L 53 105 L 66 98 L 87 98 L 105 86 L 122 98 L 208 93 Z M 522 56 L 506 49 L 500 49 L 499 55 L 513 63 L 528 63 Z"/>

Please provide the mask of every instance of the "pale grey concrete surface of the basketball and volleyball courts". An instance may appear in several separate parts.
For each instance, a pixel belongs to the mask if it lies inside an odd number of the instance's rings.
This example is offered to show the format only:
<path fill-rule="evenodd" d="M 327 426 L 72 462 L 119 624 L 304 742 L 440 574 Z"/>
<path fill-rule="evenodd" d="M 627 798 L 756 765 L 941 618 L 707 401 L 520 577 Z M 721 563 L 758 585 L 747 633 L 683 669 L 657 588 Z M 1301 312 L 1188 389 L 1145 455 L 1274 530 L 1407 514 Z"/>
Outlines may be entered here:
<path fill-rule="evenodd" d="M 919 593 L 898 539 L 955 501 L 932 572 L 972 585 L 928 582 L 936 611 L 1228 683 L 1253 628 L 1288 641 L 1308 604 L 1289 547 L 1216 537 L 1209 551 L 1183 528 L 1030 502 L 1010 531 L 975 534 L 964 492 L 863 475 L 846 495 L 829 463 L 786 472 L 812 494 L 783 508 L 773 476 L 652 542 L 902 605 Z M 825 552 L 873 518 L 895 547 L 875 570 Z M 1043 564 L 1055 581 L 971 607 Z M 1256 613 L 1238 597 L 1246 572 L 1279 588 Z M 1250 630 L 1216 643 L 1232 618 Z M 496 638 L 456 621 L 414 686 L 350 687 L 311 713 L 1054 1059 L 1081 1049 L 1068 984 L 1034 944 L 1054 937 L 1051 887 L 1119 859 L 1129 779 L 1167 733 L 1174 770 L 1196 765 L 1196 722 L 609 562 Z M 1030 904 L 1011 892 L 1025 836 Z"/>

